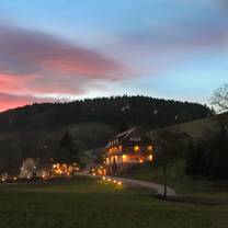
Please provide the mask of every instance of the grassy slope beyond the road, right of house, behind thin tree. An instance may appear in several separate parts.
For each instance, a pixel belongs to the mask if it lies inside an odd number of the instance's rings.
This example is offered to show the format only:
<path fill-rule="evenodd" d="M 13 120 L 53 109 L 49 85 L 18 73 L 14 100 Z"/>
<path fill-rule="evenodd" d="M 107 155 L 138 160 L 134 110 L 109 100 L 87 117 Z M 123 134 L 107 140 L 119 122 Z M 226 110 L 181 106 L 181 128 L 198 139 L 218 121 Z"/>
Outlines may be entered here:
<path fill-rule="evenodd" d="M 161 168 L 151 163 L 135 168 L 122 174 L 126 178 L 163 183 Z M 178 194 L 205 197 L 228 204 L 228 184 L 210 182 L 203 179 L 192 179 L 184 173 L 184 161 L 176 161 L 168 167 L 168 185 L 174 187 Z"/>

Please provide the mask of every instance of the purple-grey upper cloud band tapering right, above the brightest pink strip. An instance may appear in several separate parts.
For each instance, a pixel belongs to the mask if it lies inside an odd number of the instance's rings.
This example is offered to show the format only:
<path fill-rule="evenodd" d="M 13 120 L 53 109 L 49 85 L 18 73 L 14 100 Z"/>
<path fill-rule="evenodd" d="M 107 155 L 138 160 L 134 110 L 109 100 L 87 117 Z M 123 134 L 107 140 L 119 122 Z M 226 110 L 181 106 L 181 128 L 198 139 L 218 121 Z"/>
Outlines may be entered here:
<path fill-rule="evenodd" d="M 15 73 L 45 73 L 112 78 L 124 67 L 106 56 L 53 35 L 0 25 L 0 67 Z"/>

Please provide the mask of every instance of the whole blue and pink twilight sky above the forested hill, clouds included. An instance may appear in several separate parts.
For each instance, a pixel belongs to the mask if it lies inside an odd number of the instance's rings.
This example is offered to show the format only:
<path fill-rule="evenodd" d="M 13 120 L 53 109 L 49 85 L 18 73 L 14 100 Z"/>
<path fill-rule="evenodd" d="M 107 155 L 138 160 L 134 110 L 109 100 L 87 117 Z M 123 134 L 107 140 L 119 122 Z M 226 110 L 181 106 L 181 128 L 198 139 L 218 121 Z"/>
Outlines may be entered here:
<path fill-rule="evenodd" d="M 228 0 L 0 0 L 0 111 L 122 94 L 208 103 Z"/>

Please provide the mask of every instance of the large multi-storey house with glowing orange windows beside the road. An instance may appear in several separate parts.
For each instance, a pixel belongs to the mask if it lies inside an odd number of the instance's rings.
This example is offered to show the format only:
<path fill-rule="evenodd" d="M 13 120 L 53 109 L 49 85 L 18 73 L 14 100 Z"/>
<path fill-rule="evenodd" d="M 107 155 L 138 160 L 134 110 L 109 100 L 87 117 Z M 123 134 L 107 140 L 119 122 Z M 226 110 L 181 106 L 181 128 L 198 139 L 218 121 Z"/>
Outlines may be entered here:
<path fill-rule="evenodd" d="M 139 127 L 133 127 L 110 139 L 104 149 L 106 173 L 119 173 L 133 166 L 153 160 L 151 139 Z"/>

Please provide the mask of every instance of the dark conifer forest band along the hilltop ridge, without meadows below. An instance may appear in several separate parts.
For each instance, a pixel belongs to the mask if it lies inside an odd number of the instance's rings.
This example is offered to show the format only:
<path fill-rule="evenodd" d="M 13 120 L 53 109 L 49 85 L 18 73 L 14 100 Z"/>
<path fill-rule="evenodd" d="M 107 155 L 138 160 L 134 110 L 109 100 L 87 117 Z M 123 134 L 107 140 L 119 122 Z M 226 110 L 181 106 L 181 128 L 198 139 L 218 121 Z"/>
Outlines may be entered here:
<path fill-rule="evenodd" d="M 140 125 L 147 129 L 204 118 L 202 104 L 148 96 L 111 96 L 26 105 L 0 113 L 0 132 L 56 128 L 82 122 Z"/>

